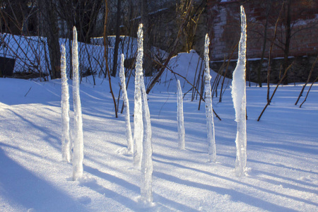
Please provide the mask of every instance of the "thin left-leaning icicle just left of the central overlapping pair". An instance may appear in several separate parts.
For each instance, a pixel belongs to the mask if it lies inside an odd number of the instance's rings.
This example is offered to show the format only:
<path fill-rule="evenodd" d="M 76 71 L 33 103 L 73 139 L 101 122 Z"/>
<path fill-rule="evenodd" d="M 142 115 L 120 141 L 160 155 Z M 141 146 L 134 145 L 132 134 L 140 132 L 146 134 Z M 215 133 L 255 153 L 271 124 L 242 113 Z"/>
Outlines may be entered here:
<path fill-rule="evenodd" d="M 128 100 L 127 92 L 126 92 L 126 79 L 125 79 L 125 73 L 124 73 L 124 54 L 122 54 L 119 77 L 120 77 L 120 83 L 122 84 L 122 98 L 124 100 L 124 109 L 125 109 L 127 150 L 128 150 L 128 153 L 132 153 L 134 141 L 131 135 L 131 125 L 130 125 L 130 117 L 129 117 L 129 100 Z"/>

